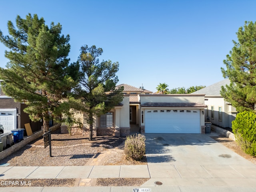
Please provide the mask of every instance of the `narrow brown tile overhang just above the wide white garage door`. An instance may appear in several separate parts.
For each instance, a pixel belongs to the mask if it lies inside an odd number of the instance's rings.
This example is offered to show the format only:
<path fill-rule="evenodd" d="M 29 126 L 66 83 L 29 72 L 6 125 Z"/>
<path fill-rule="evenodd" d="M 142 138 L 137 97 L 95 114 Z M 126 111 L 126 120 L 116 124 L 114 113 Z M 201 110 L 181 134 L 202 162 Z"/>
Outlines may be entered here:
<path fill-rule="evenodd" d="M 172 108 L 206 108 L 207 105 L 202 103 L 158 103 L 147 102 L 142 107 L 172 107 Z"/>

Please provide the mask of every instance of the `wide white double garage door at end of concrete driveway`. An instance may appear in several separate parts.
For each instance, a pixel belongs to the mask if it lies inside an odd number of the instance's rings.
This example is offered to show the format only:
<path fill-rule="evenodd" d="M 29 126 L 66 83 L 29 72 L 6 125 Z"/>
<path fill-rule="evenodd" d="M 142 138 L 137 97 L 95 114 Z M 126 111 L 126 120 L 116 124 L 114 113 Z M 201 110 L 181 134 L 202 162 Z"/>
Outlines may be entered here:
<path fill-rule="evenodd" d="M 145 133 L 200 133 L 200 110 L 147 109 Z"/>

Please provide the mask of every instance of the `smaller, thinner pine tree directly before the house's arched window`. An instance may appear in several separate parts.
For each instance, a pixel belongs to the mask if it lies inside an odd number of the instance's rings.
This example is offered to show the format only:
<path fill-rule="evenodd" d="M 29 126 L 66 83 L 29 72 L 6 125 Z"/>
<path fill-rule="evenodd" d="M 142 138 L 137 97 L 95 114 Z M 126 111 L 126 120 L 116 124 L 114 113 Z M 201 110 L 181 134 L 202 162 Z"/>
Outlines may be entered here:
<path fill-rule="evenodd" d="M 80 100 L 78 110 L 86 114 L 89 125 L 89 140 L 92 140 L 94 115 L 105 114 L 123 100 L 123 87 L 116 88 L 118 62 L 102 61 L 98 57 L 102 48 L 82 46 L 78 57 L 78 86 L 74 89 L 75 97 Z M 106 94 L 109 92 L 109 94 Z M 76 108 L 77 106 L 74 106 Z"/>

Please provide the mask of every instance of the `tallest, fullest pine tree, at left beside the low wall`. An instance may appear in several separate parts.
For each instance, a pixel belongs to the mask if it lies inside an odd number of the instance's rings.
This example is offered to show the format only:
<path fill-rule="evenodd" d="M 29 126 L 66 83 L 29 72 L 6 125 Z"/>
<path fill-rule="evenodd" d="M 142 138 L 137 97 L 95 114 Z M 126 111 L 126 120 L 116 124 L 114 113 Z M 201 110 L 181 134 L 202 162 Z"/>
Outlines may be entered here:
<path fill-rule="evenodd" d="M 0 31 L 0 41 L 8 48 L 10 61 L 0 68 L 2 89 L 24 109 L 31 120 L 44 120 L 44 131 L 49 120 L 58 118 L 65 104 L 61 99 L 70 90 L 72 79 L 67 76 L 70 37 L 61 34 L 62 26 L 45 24 L 43 18 L 28 14 L 26 19 L 16 18 L 16 27 L 8 21 L 9 35 Z"/>

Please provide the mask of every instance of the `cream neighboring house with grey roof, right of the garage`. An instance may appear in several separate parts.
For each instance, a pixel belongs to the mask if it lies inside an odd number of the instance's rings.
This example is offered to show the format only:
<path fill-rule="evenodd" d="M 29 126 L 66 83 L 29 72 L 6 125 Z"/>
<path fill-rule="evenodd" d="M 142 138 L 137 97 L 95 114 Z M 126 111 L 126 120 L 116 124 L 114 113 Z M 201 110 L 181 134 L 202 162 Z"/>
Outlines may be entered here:
<path fill-rule="evenodd" d="M 205 104 L 208 106 L 205 110 L 205 121 L 211 122 L 220 127 L 232 128 L 232 121 L 236 118 L 236 108 L 229 102 L 226 102 L 220 95 L 221 86 L 230 84 L 229 79 L 224 79 L 208 87 L 202 88 L 191 94 L 205 94 Z"/>

